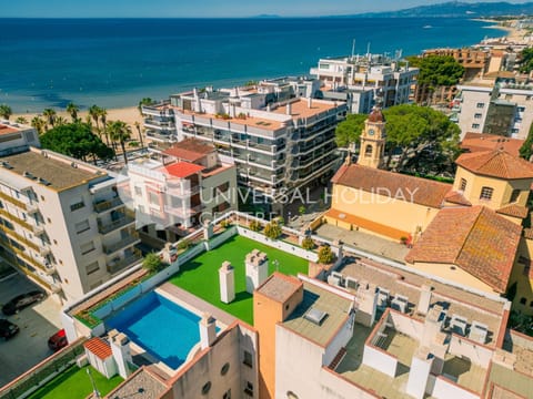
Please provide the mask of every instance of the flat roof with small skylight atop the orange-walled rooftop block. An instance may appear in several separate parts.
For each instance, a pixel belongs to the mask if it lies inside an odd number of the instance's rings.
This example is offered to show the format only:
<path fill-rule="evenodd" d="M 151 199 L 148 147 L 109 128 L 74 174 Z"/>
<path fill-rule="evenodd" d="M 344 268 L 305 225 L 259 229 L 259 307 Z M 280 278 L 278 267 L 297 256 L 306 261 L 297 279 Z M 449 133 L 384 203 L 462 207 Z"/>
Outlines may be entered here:
<path fill-rule="evenodd" d="M 344 325 L 353 303 L 314 284 L 303 283 L 303 300 L 281 325 L 309 340 L 325 347 L 336 331 Z M 326 314 L 318 325 L 304 316 L 316 309 Z"/>

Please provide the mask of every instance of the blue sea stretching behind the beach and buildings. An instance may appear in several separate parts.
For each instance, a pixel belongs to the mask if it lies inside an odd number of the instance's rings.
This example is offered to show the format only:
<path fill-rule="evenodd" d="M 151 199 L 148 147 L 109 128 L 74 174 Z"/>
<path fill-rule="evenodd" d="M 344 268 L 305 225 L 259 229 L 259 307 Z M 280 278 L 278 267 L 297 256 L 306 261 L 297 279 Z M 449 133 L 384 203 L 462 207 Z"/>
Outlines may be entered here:
<path fill-rule="evenodd" d="M 309 73 L 319 58 L 503 35 L 466 19 L 0 19 L 0 103 L 137 105 L 192 86 Z M 425 27 L 425 28 L 424 28 Z M 431 28 L 430 28 L 431 27 Z"/>

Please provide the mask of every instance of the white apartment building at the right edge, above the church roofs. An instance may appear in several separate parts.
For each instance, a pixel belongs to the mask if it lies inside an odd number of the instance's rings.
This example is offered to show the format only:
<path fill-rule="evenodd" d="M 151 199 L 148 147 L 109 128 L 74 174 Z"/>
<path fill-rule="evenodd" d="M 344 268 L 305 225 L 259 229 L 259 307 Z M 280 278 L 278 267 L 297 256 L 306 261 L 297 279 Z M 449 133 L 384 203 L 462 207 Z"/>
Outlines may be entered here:
<path fill-rule="evenodd" d="M 533 85 L 495 83 L 459 85 L 452 121 L 467 132 L 526 139 L 533 122 Z"/>

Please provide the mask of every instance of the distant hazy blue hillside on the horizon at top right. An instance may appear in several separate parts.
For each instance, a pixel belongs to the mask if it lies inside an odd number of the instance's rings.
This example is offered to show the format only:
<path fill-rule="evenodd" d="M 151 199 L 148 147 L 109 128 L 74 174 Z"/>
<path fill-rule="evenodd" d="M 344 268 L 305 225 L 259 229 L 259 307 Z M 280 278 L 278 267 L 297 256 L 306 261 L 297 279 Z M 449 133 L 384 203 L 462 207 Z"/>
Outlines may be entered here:
<path fill-rule="evenodd" d="M 462 2 L 450 1 L 440 4 L 420 6 L 399 11 L 368 12 L 351 17 L 361 18 L 406 18 L 406 17 L 500 17 L 533 14 L 533 2 L 512 4 L 509 2 Z"/>

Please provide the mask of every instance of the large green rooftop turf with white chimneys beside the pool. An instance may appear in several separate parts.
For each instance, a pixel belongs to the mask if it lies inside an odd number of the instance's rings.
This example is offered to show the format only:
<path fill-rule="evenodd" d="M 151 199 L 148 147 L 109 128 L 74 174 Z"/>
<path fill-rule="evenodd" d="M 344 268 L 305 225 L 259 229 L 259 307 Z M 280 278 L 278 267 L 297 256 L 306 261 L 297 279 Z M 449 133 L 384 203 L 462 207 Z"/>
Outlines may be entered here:
<path fill-rule="evenodd" d="M 170 282 L 230 315 L 253 324 L 252 295 L 247 293 L 244 277 L 244 258 L 253 249 L 266 253 L 269 274 L 275 270 L 274 259 L 279 262 L 280 273 L 294 276 L 298 273 L 308 274 L 309 260 L 247 237 L 233 236 L 215 249 L 203 253 L 181 266 L 180 272 Z M 231 304 L 220 300 L 219 268 L 224 260 L 230 262 L 235 269 L 235 299 Z"/>

